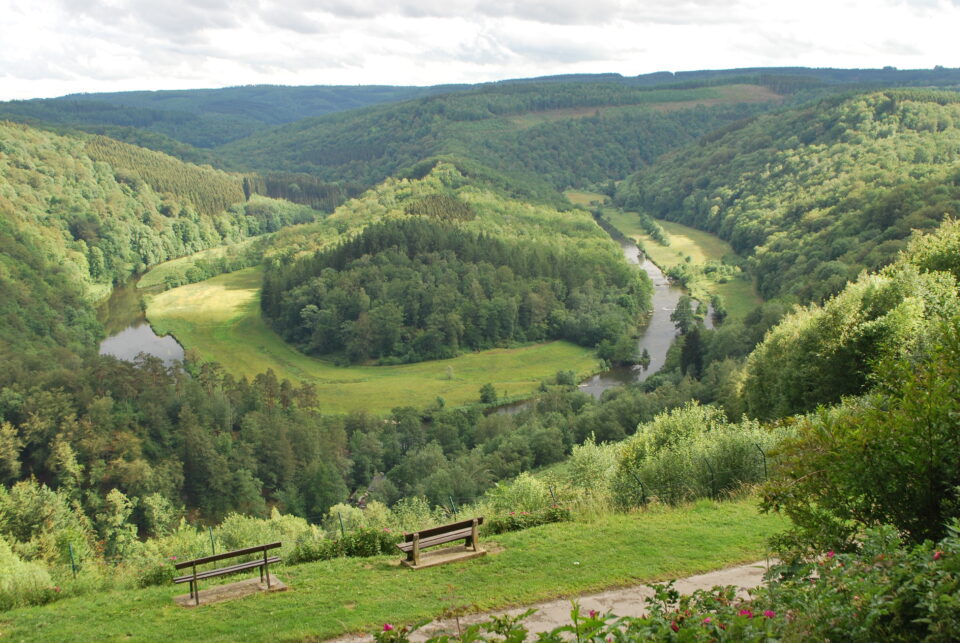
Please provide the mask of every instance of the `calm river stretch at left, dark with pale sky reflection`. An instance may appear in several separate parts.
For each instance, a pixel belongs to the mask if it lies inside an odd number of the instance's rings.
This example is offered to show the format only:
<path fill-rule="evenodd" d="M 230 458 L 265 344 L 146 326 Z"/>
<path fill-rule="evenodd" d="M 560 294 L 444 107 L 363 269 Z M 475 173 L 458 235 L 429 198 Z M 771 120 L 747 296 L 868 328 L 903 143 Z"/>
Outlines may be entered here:
<path fill-rule="evenodd" d="M 101 355 L 132 362 L 140 353 L 159 357 L 166 366 L 183 361 L 183 347 L 170 335 L 158 336 L 144 314 L 143 298 L 133 278 L 113 289 L 100 305 L 97 318 L 108 337 L 100 342 Z"/>

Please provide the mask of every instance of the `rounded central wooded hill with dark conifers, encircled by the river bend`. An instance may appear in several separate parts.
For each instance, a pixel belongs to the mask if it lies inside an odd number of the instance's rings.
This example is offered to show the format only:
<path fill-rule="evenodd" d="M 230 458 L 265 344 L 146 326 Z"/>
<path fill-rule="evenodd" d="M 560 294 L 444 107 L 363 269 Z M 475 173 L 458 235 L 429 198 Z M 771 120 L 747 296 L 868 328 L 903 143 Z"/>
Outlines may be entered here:
<path fill-rule="evenodd" d="M 264 315 L 307 353 L 397 363 L 566 339 L 637 359 L 649 280 L 585 211 L 514 201 L 441 163 L 314 227 L 281 235 L 262 293 Z M 331 227 L 349 231 L 336 247 Z"/>

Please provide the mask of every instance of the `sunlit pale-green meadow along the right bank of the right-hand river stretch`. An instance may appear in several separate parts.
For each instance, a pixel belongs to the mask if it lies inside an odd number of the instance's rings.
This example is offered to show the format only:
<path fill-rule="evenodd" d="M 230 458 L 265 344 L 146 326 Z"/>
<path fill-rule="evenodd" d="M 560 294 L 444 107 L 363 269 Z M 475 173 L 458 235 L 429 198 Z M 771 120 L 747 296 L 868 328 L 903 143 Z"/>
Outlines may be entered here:
<path fill-rule="evenodd" d="M 669 246 L 662 246 L 644 232 L 635 214 L 608 208 L 604 210 L 604 216 L 617 230 L 639 243 L 650 260 L 664 271 L 686 263 L 687 257 L 693 264 L 702 264 L 708 259 L 719 261 L 724 255 L 735 254 L 730 244 L 720 237 L 680 223 L 656 219 L 670 239 Z M 726 283 L 701 280 L 692 284 L 690 290 L 698 299 L 714 294 L 723 297 L 733 319 L 742 319 L 762 303 L 753 282 L 743 278 Z"/>

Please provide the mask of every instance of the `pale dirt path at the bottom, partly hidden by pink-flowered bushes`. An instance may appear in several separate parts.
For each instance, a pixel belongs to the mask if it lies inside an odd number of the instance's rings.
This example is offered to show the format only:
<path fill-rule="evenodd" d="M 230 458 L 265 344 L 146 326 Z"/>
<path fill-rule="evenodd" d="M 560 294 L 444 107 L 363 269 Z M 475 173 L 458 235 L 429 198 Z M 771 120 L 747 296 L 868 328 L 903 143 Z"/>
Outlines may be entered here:
<path fill-rule="evenodd" d="M 684 594 L 689 594 L 698 589 L 710 589 L 714 585 L 736 585 L 743 589 L 757 587 L 763 582 L 763 573 L 767 569 L 765 561 L 751 563 L 749 565 L 740 565 L 738 567 L 729 567 L 707 574 L 681 578 L 674 583 L 674 587 Z M 625 587 L 621 589 L 611 589 L 597 594 L 585 594 L 577 597 L 580 607 L 583 611 L 597 610 L 598 612 L 613 612 L 617 616 L 642 616 L 646 599 L 653 592 L 646 585 L 635 587 Z M 538 632 L 548 632 L 553 628 L 565 625 L 570 622 L 570 599 L 560 599 L 536 603 L 527 607 L 519 607 L 510 610 L 498 610 L 486 614 L 471 614 L 460 618 L 460 627 L 466 627 L 473 623 L 488 620 L 491 615 L 521 614 L 529 608 L 537 610 L 535 614 L 529 616 L 524 625 L 531 634 Z M 413 641 L 424 641 L 431 636 L 439 634 L 457 633 L 457 622 L 453 619 L 434 621 L 414 632 L 411 636 Z M 358 643 L 360 641 L 371 641 L 370 636 L 343 636 L 331 639 L 331 643 Z"/>

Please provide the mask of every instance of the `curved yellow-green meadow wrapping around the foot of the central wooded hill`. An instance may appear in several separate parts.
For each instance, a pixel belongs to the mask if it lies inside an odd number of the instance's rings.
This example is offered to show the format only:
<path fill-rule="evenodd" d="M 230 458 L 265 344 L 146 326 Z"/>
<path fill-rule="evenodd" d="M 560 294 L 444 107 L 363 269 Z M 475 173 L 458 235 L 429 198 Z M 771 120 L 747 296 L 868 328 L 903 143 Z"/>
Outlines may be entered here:
<path fill-rule="evenodd" d="M 557 371 L 586 376 L 597 369 L 593 349 L 560 341 L 401 366 L 335 366 L 297 352 L 264 323 L 261 274 L 247 268 L 160 293 L 149 298 L 147 318 L 158 333 L 173 334 L 187 351 L 235 376 L 270 368 L 279 378 L 313 382 L 330 413 L 426 406 L 438 396 L 466 404 L 478 401 L 487 382 L 502 398 L 522 397 Z"/>

